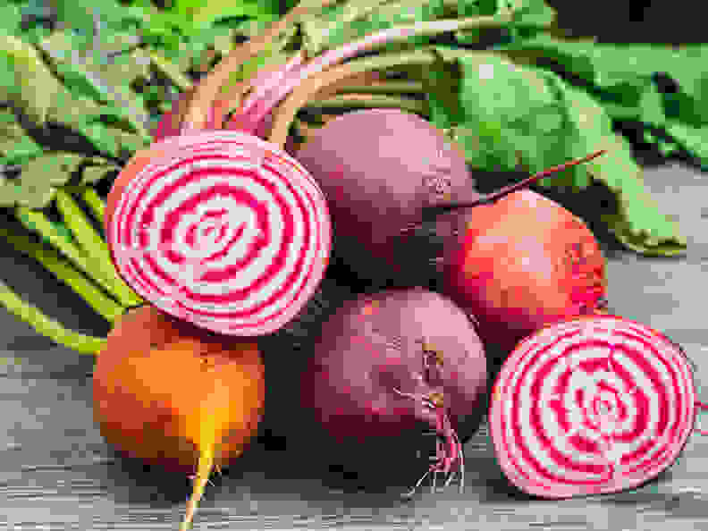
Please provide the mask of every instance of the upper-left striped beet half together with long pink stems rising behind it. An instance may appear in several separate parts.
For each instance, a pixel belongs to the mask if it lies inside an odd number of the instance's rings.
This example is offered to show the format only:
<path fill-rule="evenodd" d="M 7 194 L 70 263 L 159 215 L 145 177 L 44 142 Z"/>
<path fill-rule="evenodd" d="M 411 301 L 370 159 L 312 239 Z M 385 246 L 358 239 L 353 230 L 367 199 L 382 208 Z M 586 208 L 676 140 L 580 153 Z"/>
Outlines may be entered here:
<path fill-rule="evenodd" d="M 315 291 L 329 257 L 325 198 L 284 152 L 282 124 L 271 131 L 276 142 L 257 137 L 274 105 L 300 80 L 372 46 L 499 25 L 510 16 L 413 24 L 375 32 L 312 61 L 295 55 L 235 89 L 240 113 L 232 121 L 240 131 L 206 131 L 222 119 L 220 89 L 234 68 L 312 8 L 297 4 L 224 57 L 186 98 L 181 134 L 136 153 L 108 198 L 107 240 L 125 282 L 165 312 L 215 332 L 278 330 Z M 245 105 L 249 91 L 255 101 Z"/>

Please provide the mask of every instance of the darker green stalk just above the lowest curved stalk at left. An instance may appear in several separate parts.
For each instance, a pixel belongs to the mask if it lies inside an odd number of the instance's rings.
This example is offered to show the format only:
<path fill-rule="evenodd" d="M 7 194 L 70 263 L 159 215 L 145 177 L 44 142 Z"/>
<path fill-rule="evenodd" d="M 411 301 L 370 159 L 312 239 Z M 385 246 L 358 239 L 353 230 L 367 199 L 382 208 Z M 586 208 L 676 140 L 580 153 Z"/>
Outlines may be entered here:
<path fill-rule="evenodd" d="M 10 242 L 14 249 L 34 258 L 58 280 L 69 285 L 75 293 L 80 295 L 81 299 L 84 299 L 98 315 L 103 316 L 109 323 L 113 324 L 115 318 L 122 315 L 124 308 L 121 305 L 117 304 L 114 299 L 106 297 L 93 282 L 89 282 L 72 267 L 71 263 L 64 260 L 53 249 L 46 249 L 45 246 L 31 240 L 28 235 L 20 234 L 4 226 L 0 226 L 0 234 Z"/>

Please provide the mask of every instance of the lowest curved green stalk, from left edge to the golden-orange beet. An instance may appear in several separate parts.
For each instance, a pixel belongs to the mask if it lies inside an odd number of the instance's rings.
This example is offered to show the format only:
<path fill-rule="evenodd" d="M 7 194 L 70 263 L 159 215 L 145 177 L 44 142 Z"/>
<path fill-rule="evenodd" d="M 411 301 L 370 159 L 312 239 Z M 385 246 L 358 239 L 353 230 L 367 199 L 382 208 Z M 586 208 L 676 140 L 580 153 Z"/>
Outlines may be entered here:
<path fill-rule="evenodd" d="M 67 349 L 76 350 L 80 354 L 97 354 L 105 346 L 105 338 L 67 330 L 61 323 L 43 314 L 39 308 L 18 297 L 17 293 L 2 281 L 0 281 L 0 304 L 38 333 Z"/>

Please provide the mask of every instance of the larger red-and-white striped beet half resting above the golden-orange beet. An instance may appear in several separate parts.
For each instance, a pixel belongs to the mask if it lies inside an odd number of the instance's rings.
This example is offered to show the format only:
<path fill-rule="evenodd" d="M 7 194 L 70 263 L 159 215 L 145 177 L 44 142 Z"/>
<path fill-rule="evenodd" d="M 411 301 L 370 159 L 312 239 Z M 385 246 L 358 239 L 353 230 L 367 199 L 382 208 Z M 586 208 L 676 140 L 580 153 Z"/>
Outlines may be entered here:
<path fill-rule="evenodd" d="M 131 164 L 105 223 L 134 291 L 217 333 L 271 333 L 298 314 L 324 276 L 331 227 L 297 161 L 247 133 L 202 131 L 157 142 Z"/>

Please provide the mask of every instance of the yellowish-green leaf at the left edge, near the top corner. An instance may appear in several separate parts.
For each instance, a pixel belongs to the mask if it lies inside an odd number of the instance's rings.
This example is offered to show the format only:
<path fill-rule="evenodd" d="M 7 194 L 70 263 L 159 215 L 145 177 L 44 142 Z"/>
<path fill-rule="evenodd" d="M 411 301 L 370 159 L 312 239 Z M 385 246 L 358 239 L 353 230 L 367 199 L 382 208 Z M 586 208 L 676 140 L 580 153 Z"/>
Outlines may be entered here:
<path fill-rule="evenodd" d="M 10 100 L 42 125 L 52 97 L 61 83 L 37 50 L 19 38 L 0 34 L 0 99 Z"/>

